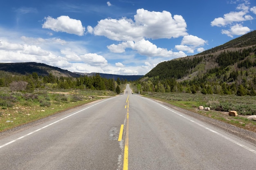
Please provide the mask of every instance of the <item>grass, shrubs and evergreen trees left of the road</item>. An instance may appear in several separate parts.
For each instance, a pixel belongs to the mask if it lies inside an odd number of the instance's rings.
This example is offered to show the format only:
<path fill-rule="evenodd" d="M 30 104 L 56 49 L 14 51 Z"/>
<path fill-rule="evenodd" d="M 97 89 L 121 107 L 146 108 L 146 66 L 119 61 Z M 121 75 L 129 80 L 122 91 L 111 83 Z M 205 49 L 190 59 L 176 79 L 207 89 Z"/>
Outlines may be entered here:
<path fill-rule="evenodd" d="M 121 92 L 127 80 L 0 71 L 0 132 Z"/>

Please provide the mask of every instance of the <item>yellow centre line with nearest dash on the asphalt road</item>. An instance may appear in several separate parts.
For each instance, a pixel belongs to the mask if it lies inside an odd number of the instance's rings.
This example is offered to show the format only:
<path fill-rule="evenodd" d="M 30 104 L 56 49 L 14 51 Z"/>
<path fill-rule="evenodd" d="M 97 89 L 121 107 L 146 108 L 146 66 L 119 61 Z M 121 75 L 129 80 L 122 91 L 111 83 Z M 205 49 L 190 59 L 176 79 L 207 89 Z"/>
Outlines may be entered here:
<path fill-rule="evenodd" d="M 125 141 L 124 141 L 124 167 L 123 170 L 128 170 L 128 124 L 129 124 L 129 95 L 126 99 L 127 103 L 127 117 L 126 117 L 126 128 L 125 128 Z M 125 106 L 126 108 L 126 106 Z M 121 125 L 118 141 L 122 140 L 124 125 Z"/>

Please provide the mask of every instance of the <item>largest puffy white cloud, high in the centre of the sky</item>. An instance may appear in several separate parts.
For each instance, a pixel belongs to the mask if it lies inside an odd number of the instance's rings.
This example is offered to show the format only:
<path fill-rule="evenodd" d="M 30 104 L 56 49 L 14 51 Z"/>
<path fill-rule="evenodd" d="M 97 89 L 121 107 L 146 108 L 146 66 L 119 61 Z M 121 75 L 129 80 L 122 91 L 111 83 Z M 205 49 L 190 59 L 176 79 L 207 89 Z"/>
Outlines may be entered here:
<path fill-rule="evenodd" d="M 137 9 L 134 20 L 128 18 L 100 20 L 93 29 L 88 26 L 88 32 L 103 35 L 111 40 L 136 41 L 142 38 L 177 38 L 187 35 L 186 22 L 181 15 L 168 11 L 155 12 Z"/>

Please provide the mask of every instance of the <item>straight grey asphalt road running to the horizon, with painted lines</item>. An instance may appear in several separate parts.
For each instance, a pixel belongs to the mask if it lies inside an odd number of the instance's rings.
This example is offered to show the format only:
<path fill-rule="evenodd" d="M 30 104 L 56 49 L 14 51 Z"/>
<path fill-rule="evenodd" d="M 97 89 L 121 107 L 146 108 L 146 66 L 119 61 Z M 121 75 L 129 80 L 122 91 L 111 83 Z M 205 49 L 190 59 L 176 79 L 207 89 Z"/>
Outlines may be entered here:
<path fill-rule="evenodd" d="M 0 170 L 256 170 L 255 162 L 256 146 L 128 85 L 0 140 Z"/>

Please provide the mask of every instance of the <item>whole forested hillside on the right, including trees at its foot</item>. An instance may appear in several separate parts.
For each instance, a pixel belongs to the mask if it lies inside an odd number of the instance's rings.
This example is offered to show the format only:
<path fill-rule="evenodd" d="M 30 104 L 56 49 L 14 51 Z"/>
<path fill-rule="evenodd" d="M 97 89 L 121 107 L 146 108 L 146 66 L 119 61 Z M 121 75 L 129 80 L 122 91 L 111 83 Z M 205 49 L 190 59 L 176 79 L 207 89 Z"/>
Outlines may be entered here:
<path fill-rule="evenodd" d="M 256 31 L 159 63 L 138 83 L 142 91 L 256 95 Z"/>

